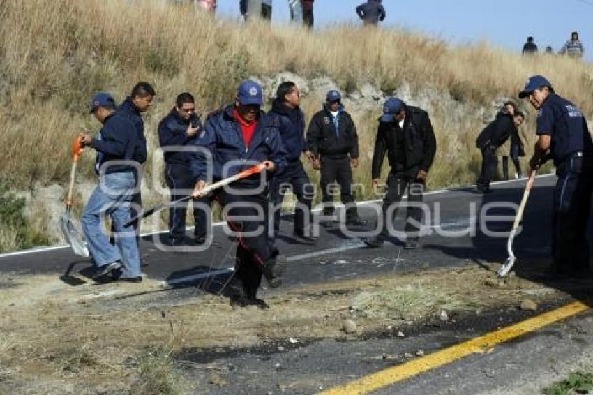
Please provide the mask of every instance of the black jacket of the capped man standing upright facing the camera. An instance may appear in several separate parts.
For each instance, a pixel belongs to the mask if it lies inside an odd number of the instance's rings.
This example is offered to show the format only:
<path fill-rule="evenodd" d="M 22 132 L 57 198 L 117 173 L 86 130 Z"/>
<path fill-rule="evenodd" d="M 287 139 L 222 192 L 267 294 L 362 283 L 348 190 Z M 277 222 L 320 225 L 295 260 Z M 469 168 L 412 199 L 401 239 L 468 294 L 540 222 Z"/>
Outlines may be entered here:
<path fill-rule="evenodd" d="M 315 155 L 321 156 L 346 156 L 350 158 L 359 157 L 359 136 L 356 133 L 356 125 L 350 114 L 340 107 L 339 128 L 333 126 L 331 112 L 324 105 L 323 110 L 313 115 L 307 130 L 307 146 Z"/>

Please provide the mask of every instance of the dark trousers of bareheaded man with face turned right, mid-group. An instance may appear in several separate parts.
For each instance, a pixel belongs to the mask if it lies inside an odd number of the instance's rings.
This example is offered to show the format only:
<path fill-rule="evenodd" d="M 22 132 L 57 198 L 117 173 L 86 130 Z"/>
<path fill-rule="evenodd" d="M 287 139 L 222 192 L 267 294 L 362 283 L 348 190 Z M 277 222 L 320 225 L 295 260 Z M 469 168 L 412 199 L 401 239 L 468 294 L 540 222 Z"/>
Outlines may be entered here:
<path fill-rule="evenodd" d="M 288 163 L 286 170 L 279 174 L 274 174 L 270 181 L 270 198 L 276 211 L 274 211 L 274 234 L 278 234 L 280 230 L 280 210 L 277 209 L 279 204 L 282 204 L 284 196 L 288 189 L 292 188 L 299 205 L 294 210 L 294 232 L 298 234 L 305 233 L 305 223 L 310 223 L 311 219 L 311 204 L 313 202 L 313 188 L 309 176 L 303 168 L 303 163 L 294 161 Z M 305 221 L 308 218 L 308 221 Z M 272 238 L 273 239 L 273 238 Z"/>

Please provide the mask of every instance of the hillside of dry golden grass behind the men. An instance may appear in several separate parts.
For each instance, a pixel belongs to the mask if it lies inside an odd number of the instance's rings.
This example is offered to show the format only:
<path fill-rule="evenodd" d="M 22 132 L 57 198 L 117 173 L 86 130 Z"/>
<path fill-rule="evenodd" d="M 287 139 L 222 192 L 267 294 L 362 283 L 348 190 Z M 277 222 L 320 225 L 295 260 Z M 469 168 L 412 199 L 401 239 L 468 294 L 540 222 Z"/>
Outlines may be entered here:
<path fill-rule="evenodd" d="M 209 112 L 232 100 L 243 78 L 283 71 L 329 77 L 345 92 L 370 83 L 387 92 L 405 85 L 412 98 L 424 96 L 439 142 L 431 187 L 474 181 L 479 164 L 474 140 L 484 116 L 492 114 L 493 100 L 516 95 L 532 73 L 548 76 L 560 94 L 593 112 L 593 103 L 585 100 L 593 69 L 572 59 L 524 59 L 486 44 L 453 48 L 390 29 L 243 27 L 151 0 L 134 6 L 123 0 L 0 0 L 2 182 L 22 189 L 65 181 L 72 137 L 82 128 L 98 130 L 87 113 L 95 91 L 123 100 L 138 80 L 156 87 L 158 100 L 147 117 L 153 151 L 156 124 L 179 92 L 193 92 L 200 111 Z M 317 96 L 303 103 L 308 116 L 319 107 Z M 534 112 L 527 110 L 525 131 L 532 135 Z M 356 172 L 362 184 L 370 181 L 379 112 L 377 106 L 354 117 L 362 157 L 369 159 Z M 81 166 L 89 178 L 92 160 L 87 154 Z M 160 173 L 155 163 L 157 168 L 149 159 L 148 172 Z"/>

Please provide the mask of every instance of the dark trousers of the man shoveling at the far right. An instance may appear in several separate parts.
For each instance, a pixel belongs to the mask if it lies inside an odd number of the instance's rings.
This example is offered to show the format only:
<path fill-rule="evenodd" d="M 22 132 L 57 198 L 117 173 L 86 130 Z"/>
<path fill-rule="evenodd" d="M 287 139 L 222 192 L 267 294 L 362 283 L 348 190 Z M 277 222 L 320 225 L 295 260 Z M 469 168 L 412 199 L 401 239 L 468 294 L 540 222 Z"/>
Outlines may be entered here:
<path fill-rule="evenodd" d="M 587 221 L 593 191 L 593 158 L 573 156 L 557 167 L 552 254 L 555 270 L 589 268 Z"/>

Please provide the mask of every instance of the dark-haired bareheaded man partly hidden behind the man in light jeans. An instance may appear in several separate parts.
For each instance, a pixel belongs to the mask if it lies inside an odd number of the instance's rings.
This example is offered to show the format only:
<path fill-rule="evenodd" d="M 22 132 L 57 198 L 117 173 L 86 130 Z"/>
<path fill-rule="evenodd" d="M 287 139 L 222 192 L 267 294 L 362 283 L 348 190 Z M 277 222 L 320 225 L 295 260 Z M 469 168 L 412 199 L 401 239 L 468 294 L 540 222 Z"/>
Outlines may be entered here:
<path fill-rule="evenodd" d="M 117 108 L 117 112 L 128 117 L 134 125 L 137 134 L 136 157 L 134 160 L 140 165 L 146 162 L 148 158 L 147 138 L 144 135 L 144 120 L 142 119 L 142 114 L 149 110 L 154 96 L 156 96 L 156 92 L 151 84 L 141 81 L 135 84 L 130 96 L 128 96 L 126 100 L 123 100 L 123 103 Z M 142 174 L 138 174 L 138 172 L 135 171 L 134 177 L 136 179 L 137 192 L 132 196 L 131 210 L 133 217 L 138 214 L 135 207 L 138 209 L 142 207 L 142 195 L 140 194 Z M 140 244 L 140 221 L 134 223 L 134 230 L 136 232 L 136 240 Z"/>

